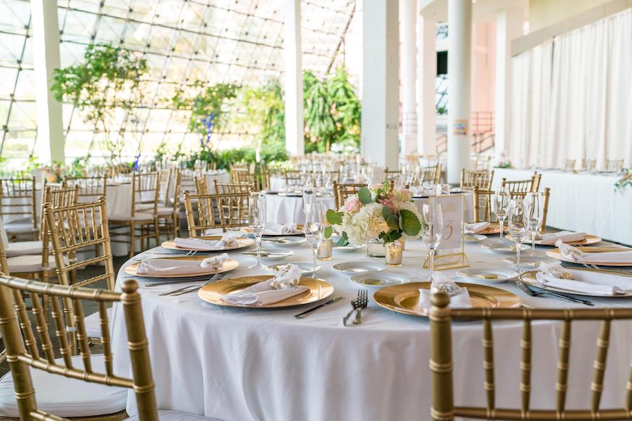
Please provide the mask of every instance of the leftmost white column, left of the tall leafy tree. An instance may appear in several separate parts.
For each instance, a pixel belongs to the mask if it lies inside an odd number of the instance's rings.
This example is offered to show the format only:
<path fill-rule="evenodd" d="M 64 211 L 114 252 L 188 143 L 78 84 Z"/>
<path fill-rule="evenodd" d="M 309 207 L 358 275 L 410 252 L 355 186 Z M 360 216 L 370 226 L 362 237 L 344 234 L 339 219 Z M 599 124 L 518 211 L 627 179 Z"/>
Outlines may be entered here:
<path fill-rule="evenodd" d="M 31 0 L 35 105 L 37 108 L 37 156 L 44 162 L 64 162 L 62 105 L 53 98 L 53 69 L 59 62 L 57 1 Z"/>

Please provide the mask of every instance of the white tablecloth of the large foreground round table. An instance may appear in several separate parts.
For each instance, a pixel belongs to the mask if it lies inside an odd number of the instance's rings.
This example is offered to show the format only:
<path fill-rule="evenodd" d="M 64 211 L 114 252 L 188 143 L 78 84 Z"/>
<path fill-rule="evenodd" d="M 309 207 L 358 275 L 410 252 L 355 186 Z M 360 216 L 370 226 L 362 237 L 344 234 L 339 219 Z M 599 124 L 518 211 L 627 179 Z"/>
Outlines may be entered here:
<path fill-rule="evenodd" d="M 155 253 L 148 250 L 146 256 Z M 303 245 L 289 262 L 310 261 Z M 542 254 L 544 248 L 539 248 Z M 164 250 L 162 250 L 164 253 Z M 471 267 L 503 266 L 506 255 L 496 255 L 479 245 L 468 245 Z M 239 262 L 232 279 L 265 274 L 248 269 L 254 260 L 237 252 Z M 404 266 L 396 270 L 412 280 L 426 280 L 421 269 L 426 249 L 409 241 Z M 157 256 L 159 257 L 159 256 Z M 144 288 L 145 328 L 149 341 L 156 397 L 160 409 L 181 410 L 219 420 L 429 420 L 431 377 L 428 368 L 429 328 L 421 317 L 407 316 L 378 307 L 369 300 L 362 324 L 343 326 L 357 285 L 331 266 L 348 260 L 371 260 L 363 250 L 334 251 L 331 261 L 320 262 L 318 276 L 336 290 L 331 297 L 345 299 L 295 319 L 305 307 L 289 309 L 238 309 L 219 307 L 197 294 L 159 296 L 177 288 Z M 374 260 L 375 261 L 375 260 Z M 446 271 L 454 275 L 456 269 Z M 125 279 L 120 271 L 117 288 Z M 482 283 L 482 281 L 481 281 Z M 499 288 L 520 295 L 532 307 L 586 308 L 555 298 L 532 298 L 513 283 Z M 369 289 L 369 297 L 375 290 Z M 598 306 L 629 307 L 632 298 L 591 298 Z M 307 306 L 311 307 L 311 306 Z M 610 353 L 605 372 L 603 408 L 624 403 L 632 356 L 632 323 L 612 323 Z M 494 322 L 496 404 L 520 407 L 520 338 L 522 322 Z M 575 322 L 570 352 L 568 408 L 586 408 L 593 376 L 598 323 Z M 560 323 L 532 323 L 532 408 L 555 408 L 555 368 Z M 484 405 L 482 323 L 453 324 L 455 402 Z M 121 307 L 114 307 L 112 346 L 117 373 L 131 372 Z M 133 392 L 127 412 L 136 414 Z"/>

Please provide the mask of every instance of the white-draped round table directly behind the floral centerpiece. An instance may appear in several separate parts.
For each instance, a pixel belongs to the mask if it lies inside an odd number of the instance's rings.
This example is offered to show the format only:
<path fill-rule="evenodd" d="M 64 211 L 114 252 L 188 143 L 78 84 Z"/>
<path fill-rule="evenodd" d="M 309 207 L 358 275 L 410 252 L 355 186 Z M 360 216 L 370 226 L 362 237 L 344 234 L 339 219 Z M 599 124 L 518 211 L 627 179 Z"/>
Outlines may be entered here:
<path fill-rule="evenodd" d="M 470 222 L 474 219 L 473 199 L 470 192 L 463 194 L 465 201 L 465 220 Z M 336 206 L 333 196 L 318 197 L 317 201 L 322 203 L 326 209 L 333 209 Z M 413 201 L 421 209 L 423 203 L 428 202 L 428 197 L 414 197 Z M 303 212 L 303 196 L 284 196 L 283 194 L 265 195 L 265 216 L 269 222 L 279 224 L 304 224 L 305 212 Z"/>

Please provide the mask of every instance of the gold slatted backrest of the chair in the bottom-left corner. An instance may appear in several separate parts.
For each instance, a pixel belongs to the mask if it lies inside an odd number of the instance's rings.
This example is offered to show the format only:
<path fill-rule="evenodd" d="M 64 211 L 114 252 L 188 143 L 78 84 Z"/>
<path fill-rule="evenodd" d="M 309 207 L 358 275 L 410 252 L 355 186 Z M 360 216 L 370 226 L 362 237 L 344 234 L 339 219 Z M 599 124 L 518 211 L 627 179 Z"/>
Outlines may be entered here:
<path fill-rule="evenodd" d="M 32 369 L 100 385 L 133 389 L 136 392 L 140 420 L 158 420 L 143 310 L 140 307 L 140 294 L 137 289 L 138 284 L 131 280 L 124 283 L 121 294 L 0 276 L 0 328 L 6 346 L 7 361 L 13 375 L 21 420 L 62 420 L 38 410 L 37 391 L 34 390 L 29 371 Z M 32 302 L 37 336 L 33 333 L 22 293 L 27 293 Z M 44 300 L 48 301 L 48 306 L 42 305 Z M 62 312 L 60 300 L 74 302 L 74 314 Z M 83 321 L 84 301 L 94 302 L 99 308 L 105 373 L 99 373 L 93 368 Z M 115 375 L 113 370 L 106 306 L 114 302 L 120 303 L 126 321 L 132 378 Z M 46 308 L 51 309 L 50 316 L 45 313 Z M 76 329 L 82 366 L 74 366 L 71 359 L 72 342 L 66 327 L 67 319 L 72 316 L 77 318 Z M 55 323 L 55 341 L 51 340 L 48 334 L 49 318 Z M 55 361 L 55 347 L 58 347 L 62 361 Z"/>

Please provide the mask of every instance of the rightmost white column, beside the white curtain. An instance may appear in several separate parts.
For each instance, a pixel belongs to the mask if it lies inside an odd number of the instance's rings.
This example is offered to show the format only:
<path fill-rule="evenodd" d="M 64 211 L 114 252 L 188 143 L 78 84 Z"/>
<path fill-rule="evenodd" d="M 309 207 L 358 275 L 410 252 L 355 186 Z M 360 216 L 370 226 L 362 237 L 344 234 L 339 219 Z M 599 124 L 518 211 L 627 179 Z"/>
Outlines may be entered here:
<path fill-rule="evenodd" d="M 507 8 L 496 15 L 496 86 L 494 151 L 500 159 L 511 131 L 511 40 L 522 35 L 522 9 Z"/>

